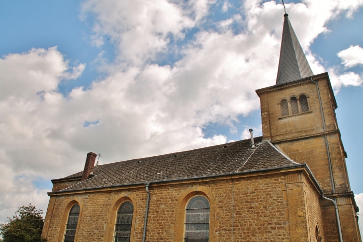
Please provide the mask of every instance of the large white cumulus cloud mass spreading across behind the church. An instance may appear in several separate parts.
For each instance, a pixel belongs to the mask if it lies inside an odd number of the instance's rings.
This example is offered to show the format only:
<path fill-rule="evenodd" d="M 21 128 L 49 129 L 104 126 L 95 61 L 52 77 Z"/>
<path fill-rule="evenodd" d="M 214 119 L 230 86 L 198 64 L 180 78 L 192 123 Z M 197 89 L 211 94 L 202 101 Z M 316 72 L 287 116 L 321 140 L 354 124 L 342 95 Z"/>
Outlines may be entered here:
<path fill-rule="evenodd" d="M 77 79 L 85 64 L 71 66 L 56 47 L 2 57 L 0 170 L 11 189 L 1 188 L 5 210 L 0 209 L 0 216 L 31 199 L 46 204 L 45 192 L 35 189 L 34 180 L 82 170 L 90 151 L 101 152 L 100 162 L 108 163 L 226 142 L 219 134 L 204 137 L 202 127 L 230 124 L 259 108 L 255 90 L 275 83 L 283 12 L 275 1 L 244 1 L 241 14 L 216 21 L 213 30 L 204 25 L 213 3 L 85 1 L 83 17 L 94 16 L 90 41 L 101 47 L 109 36 L 116 58 L 107 64 L 100 54 L 96 64 L 106 70 L 105 77 L 66 97 L 58 85 Z M 314 72 L 325 70 L 310 53 L 310 43 L 327 31 L 327 21 L 357 7 L 350 1 L 326 3 L 323 8 L 312 0 L 286 4 Z M 241 30 L 234 31 L 232 22 Z M 186 44 L 170 46 L 194 27 L 199 31 Z M 155 64 L 168 51 L 181 58 L 171 65 Z M 355 73 L 346 79 L 335 75 L 336 87 L 361 82 Z M 254 130 L 255 136 L 261 134 L 261 126 Z M 11 205 L 12 196 L 26 202 Z"/>

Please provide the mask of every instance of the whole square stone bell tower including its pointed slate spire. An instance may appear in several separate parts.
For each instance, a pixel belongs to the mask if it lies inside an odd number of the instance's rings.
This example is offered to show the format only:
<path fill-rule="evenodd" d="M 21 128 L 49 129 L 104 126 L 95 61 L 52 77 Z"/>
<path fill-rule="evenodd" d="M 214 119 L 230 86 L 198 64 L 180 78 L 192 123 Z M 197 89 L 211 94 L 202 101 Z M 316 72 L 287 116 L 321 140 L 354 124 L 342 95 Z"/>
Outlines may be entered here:
<path fill-rule="evenodd" d="M 324 196 L 334 201 L 320 199 L 325 241 L 360 242 L 359 210 L 349 184 L 329 75 L 313 74 L 286 13 L 276 85 L 256 93 L 263 139 L 292 160 L 306 163 Z"/>

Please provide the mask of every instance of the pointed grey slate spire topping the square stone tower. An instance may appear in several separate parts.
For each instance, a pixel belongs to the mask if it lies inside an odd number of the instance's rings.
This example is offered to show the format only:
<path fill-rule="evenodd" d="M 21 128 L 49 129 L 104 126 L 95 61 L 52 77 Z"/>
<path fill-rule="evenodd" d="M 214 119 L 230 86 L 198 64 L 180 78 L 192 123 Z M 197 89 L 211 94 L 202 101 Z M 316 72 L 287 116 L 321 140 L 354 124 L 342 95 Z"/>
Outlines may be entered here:
<path fill-rule="evenodd" d="M 276 85 L 314 75 L 285 13 Z"/>

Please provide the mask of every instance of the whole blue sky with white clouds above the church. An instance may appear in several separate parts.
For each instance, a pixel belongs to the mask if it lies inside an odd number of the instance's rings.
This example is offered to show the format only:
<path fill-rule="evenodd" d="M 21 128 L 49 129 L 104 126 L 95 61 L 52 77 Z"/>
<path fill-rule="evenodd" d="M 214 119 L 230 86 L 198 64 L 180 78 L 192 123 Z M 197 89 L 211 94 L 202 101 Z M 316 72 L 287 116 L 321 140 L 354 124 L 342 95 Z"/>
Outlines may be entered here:
<path fill-rule="evenodd" d="M 363 7 L 342 2 L 285 1 L 314 74 L 333 82 L 362 194 L 363 61 L 350 47 L 363 47 Z M 89 151 L 109 163 L 261 135 L 254 90 L 275 82 L 280 2 L 134 3 L 0 2 L 1 221 L 29 202 L 45 210 L 49 180 L 82 170 Z"/>

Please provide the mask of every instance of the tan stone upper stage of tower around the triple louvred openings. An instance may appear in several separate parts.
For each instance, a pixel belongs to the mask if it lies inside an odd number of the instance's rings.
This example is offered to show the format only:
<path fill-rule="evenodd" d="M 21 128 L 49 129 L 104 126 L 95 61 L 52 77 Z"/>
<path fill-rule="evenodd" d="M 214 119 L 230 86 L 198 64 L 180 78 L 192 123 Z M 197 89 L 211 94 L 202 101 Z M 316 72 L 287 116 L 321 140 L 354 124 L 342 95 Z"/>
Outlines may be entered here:
<path fill-rule="evenodd" d="M 318 80 L 326 130 L 336 130 L 335 111 L 326 79 Z M 309 112 L 282 117 L 280 102 L 291 97 L 307 96 Z M 259 95 L 263 138 L 279 141 L 324 132 L 320 102 L 315 83 L 304 82 L 295 86 L 265 92 Z"/>

